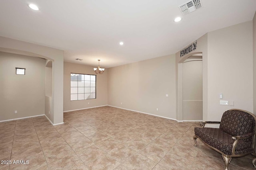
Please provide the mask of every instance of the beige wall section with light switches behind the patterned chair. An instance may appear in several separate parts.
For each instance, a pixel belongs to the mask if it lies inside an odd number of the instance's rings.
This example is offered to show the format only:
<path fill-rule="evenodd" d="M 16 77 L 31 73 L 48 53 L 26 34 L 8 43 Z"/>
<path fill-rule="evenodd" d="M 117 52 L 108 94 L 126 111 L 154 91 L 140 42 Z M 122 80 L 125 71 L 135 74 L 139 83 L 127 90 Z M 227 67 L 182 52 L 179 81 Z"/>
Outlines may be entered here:
<path fill-rule="evenodd" d="M 208 33 L 208 120 L 228 109 L 253 112 L 252 21 Z M 220 105 L 222 100 L 234 106 Z"/>

